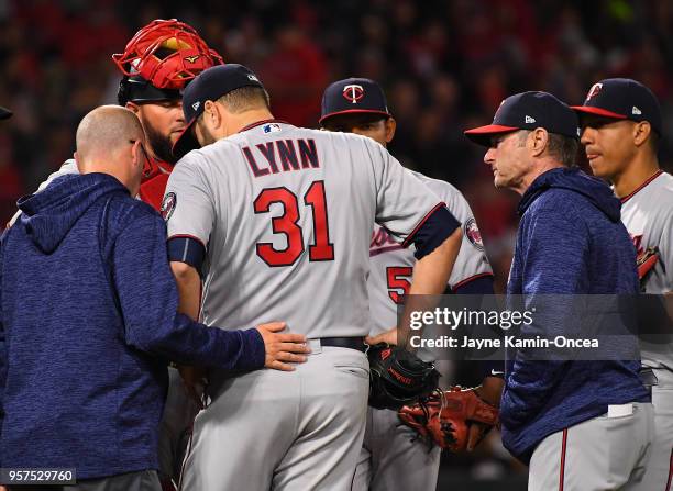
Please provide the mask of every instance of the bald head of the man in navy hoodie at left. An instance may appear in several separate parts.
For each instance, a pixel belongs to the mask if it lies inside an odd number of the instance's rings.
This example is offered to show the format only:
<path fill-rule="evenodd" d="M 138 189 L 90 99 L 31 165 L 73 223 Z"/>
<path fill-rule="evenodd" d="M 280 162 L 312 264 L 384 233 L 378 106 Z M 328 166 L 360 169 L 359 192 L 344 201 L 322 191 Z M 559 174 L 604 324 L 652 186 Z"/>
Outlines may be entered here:
<path fill-rule="evenodd" d="M 120 105 L 101 105 L 84 116 L 77 126 L 77 155 L 82 164 L 104 158 L 132 140 L 143 140 L 137 116 Z"/>

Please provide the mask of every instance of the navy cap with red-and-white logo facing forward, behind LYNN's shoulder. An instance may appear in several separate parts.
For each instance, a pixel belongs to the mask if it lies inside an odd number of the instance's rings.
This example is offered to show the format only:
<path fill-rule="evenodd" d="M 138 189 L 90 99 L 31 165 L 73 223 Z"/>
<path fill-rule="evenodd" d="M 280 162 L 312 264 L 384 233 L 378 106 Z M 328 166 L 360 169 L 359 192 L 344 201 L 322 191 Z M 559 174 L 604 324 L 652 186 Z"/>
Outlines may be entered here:
<path fill-rule="evenodd" d="M 383 89 L 368 78 L 346 78 L 331 83 L 322 94 L 319 123 L 339 114 L 371 113 L 390 116 Z"/>

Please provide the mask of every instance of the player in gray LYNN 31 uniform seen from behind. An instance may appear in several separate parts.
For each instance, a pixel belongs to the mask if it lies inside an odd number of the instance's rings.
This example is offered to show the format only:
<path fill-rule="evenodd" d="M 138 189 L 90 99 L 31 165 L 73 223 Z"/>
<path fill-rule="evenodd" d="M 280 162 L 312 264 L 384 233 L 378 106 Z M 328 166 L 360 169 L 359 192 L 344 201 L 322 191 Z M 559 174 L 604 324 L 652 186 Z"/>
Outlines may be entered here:
<path fill-rule="evenodd" d="M 198 311 L 202 279 L 206 324 L 283 319 L 312 353 L 282 377 L 210 373 L 183 488 L 349 490 L 367 408 L 374 223 L 415 244 L 411 293 L 443 291 L 460 223 L 369 138 L 274 120 L 241 65 L 203 71 L 184 110 L 174 150 L 206 146 L 180 159 L 164 198 L 183 308 Z"/>

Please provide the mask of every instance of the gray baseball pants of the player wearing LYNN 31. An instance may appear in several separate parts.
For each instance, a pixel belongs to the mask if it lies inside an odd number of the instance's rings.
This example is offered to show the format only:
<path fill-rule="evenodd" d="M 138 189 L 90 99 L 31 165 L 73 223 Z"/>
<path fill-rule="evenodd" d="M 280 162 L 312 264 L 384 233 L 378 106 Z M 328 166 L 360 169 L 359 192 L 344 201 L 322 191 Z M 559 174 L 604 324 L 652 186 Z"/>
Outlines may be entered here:
<path fill-rule="evenodd" d="M 364 437 L 369 367 L 311 344 L 293 372 L 212 377 L 185 459 L 185 491 L 349 491 Z"/>

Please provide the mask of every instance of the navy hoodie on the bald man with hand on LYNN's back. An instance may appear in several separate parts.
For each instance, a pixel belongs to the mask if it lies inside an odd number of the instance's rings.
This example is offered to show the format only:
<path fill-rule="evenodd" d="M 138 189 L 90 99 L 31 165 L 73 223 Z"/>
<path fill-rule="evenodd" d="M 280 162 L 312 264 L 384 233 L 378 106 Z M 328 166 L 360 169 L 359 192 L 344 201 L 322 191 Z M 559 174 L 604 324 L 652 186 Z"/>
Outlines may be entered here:
<path fill-rule="evenodd" d="M 260 333 L 177 314 L 164 222 L 113 177 L 19 205 L 0 243 L 0 467 L 157 469 L 167 360 L 260 368 Z"/>

